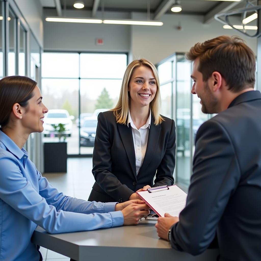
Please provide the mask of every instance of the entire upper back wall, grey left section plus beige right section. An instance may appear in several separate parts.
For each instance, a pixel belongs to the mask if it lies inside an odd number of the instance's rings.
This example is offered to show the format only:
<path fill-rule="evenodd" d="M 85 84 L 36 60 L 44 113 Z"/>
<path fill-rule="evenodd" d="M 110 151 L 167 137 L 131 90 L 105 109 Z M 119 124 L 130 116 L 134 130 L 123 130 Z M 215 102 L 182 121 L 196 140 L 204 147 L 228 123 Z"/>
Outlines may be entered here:
<path fill-rule="evenodd" d="M 53 12 L 53 13 L 52 13 Z M 77 12 L 77 13 L 76 13 Z M 79 11 L 67 11 L 67 16 L 77 16 Z M 47 9 L 44 17 L 56 15 L 56 11 Z M 82 11 L 82 17 L 90 13 Z M 104 17 L 131 18 L 146 20 L 145 13 L 112 13 L 105 12 Z M 97 17 L 102 17 L 101 13 Z M 213 20 L 203 23 L 202 15 L 166 14 L 161 17 L 163 26 L 128 26 L 105 24 L 54 23 L 44 21 L 44 50 L 74 51 L 111 51 L 129 52 L 130 57 L 147 58 L 158 63 L 174 52 L 186 52 L 195 43 L 219 35 L 239 35 L 256 53 L 257 39 L 247 38 L 231 29 L 223 29 L 222 24 Z M 177 30 L 181 25 L 182 30 Z M 104 45 L 95 45 L 96 38 L 103 38 Z"/>

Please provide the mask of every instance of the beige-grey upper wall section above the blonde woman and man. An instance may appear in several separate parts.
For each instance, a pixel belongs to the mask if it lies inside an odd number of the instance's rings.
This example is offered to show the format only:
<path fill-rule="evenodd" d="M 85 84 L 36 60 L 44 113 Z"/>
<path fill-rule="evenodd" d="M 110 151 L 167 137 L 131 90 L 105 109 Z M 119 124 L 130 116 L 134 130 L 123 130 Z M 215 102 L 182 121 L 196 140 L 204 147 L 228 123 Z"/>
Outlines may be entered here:
<path fill-rule="evenodd" d="M 134 13 L 133 18 L 145 19 L 146 16 Z M 223 24 L 215 20 L 204 24 L 203 19 L 203 15 L 166 14 L 160 19 L 163 26 L 132 26 L 133 58 L 143 57 L 158 63 L 174 52 L 187 52 L 195 43 L 224 34 L 240 36 L 256 54 L 257 38 L 247 38 L 232 29 L 223 29 Z M 181 30 L 176 28 L 179 24 Z"/>

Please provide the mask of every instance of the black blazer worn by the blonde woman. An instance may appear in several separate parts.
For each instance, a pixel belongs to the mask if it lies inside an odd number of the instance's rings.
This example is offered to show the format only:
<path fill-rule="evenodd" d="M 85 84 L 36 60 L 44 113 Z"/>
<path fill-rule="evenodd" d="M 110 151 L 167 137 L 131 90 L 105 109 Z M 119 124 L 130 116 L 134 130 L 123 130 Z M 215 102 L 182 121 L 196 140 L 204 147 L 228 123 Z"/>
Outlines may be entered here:
<path fill-rule="evenodd" d="M 145 185 L 173 185 L 175 123 L 169 118 L 164 119 L 155 126 L 151 117 L 147 149 L 137 176 L 131 126 L 116 123 L 112 111 L 98 115 L 92 169 L 96 182 L 90 201 L 124 202 Z"/>

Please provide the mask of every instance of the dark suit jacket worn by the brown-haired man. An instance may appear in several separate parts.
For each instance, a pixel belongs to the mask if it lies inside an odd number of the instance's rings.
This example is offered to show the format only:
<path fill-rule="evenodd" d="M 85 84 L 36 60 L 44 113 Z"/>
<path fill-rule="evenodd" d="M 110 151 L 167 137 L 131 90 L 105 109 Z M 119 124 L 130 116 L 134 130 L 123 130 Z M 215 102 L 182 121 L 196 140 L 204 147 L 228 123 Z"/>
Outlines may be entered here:
<path fill-rule="evenodd" d="M 261 260 L 261 94 L 248 91 L 199 128 L 174 248 L 199 254 L 217 232 L 220 260 Z"/>

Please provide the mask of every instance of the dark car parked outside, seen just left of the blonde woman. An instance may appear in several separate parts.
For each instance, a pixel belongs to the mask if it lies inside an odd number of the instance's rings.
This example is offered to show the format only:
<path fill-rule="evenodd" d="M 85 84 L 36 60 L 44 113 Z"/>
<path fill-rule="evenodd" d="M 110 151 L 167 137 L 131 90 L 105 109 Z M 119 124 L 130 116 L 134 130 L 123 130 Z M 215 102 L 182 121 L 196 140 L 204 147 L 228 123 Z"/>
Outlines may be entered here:
<path fill-rule="evenodd" d="M 97 117 L 86 117 L 80 129 L 80 146 L 94 146 L 97 129 Z"/>

